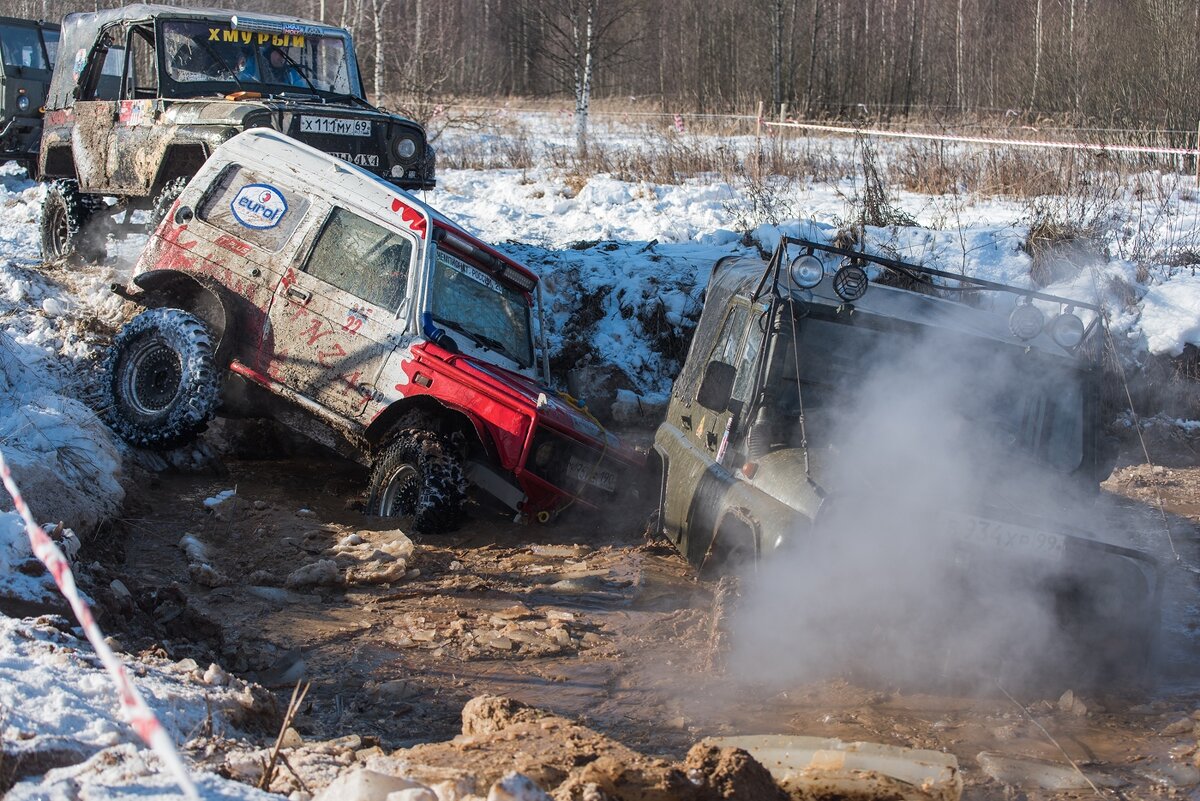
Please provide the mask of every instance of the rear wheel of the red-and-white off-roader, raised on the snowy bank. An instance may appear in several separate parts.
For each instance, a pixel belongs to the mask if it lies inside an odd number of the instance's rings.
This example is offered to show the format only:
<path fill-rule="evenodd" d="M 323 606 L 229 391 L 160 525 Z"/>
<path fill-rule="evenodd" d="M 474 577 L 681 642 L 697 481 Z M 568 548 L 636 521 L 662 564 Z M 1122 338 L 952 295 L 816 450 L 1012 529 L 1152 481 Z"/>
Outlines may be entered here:
<path fill-rule="evenodd" d="M 194 314 L 152 308 L 128 321 L 104 362 L 109 427 L 126 442 L 166 450 L 204 430 L 221 397 L 212 332 Z"/>

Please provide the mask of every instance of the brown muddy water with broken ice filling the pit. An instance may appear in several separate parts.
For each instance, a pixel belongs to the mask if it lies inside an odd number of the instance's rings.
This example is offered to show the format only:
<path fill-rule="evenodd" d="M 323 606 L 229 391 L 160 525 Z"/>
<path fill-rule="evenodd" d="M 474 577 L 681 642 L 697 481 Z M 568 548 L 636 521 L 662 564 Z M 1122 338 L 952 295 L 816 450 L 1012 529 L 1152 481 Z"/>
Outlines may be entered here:
<path fill-rule="evenodd" d="M 936 680 L 914 688 L 850 677 L 767 688 L 713 669 L 715 588 L 643 538 L 641 510 L 622 518 L 581 510 L 552 526 L 475 510 L 455 535 L 416 538 L 407 571 L 385 584 L 286 588 L 295 570 L 335 558 L 349 535 L 366 552 L 395 541 L 395 522 L 359 514 L 366 475 L 353 464 L 226 469 L 146 476 L 131 494 L 124 547 L 104 561 L 139 603 L 110 608 L 109 627 L 124 626 L 130 650 L 216 661 L 281 694 L 311 680 L 296 721 L 307 736 L 371 735 L 385 747 L 444 740 L 458 733 L 466 700 L 497 693 L 677 758 L 707 735 L 757 733 L 946 749 L 966 769 L 973 797 L 1002 795 L 978 770 L 982 751 L 1056 763 L 1067 754 L 1144 789 L 1154 785 L 1150 767 L 1193 759 L 1195 735 L 1178 721 L 1200 706 L 1196 582 L 1178 568 L 1160 689 L 1151 695 L 1086 691 L 1070 706 L 1056 693 L 1018 703 L 994 687 L 968 694 Z M 205 507 L 232 488 L 235 501 Z M 1136 492 L 1123 494 L 1145 505 Z M 1195 519 L 1170 520 L 1176 547 L 1193 559 Z M 211 573 L 190 565 L 178 546 L 185 534 L 208 549 Z M 347 570 L 359 567 L 343 556 L 338 571 Z M 1163 735 L 1172 723 L 1175 734 Z"/>

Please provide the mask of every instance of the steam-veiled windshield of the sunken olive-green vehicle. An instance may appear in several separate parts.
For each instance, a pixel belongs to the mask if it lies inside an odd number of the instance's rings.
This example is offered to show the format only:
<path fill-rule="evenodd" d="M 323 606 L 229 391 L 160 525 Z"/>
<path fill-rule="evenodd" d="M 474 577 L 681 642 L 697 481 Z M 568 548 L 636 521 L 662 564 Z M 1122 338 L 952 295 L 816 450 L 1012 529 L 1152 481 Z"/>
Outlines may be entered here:
<path fill-rule="evenodd" d="M 834 426 L 859 406 L 858 395 L 876 366 L 904 366 L 913 386 L 936 393 L 940 408 L 929 414 L 970 423 L 966 430 L 978 446 L 1061 472 L 1082 462 L 1084 386 L 1075 369 L 1024 348 L 966 337 L 923 341 L 811 317 L 797 330 L 796 348 L 790 331 L 779 343 L 778 408 L 798 420 L 803 398 L 805 433 L 816 447 L 835 446 Z M 936 357 L 918 357 L 910 369 L 916 353 Z"/>

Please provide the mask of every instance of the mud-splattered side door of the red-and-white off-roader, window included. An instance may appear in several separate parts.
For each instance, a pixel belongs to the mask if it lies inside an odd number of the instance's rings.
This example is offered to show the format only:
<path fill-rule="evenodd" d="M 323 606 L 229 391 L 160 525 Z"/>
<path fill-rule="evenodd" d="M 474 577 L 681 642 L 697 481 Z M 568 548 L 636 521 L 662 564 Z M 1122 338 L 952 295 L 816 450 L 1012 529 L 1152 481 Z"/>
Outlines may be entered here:
<path fill-rule="evenodd" d="M 407 317 L 416 241 L 334 206 L 271 302 L 270 374 L 344 416 L 361 415 Z"/>

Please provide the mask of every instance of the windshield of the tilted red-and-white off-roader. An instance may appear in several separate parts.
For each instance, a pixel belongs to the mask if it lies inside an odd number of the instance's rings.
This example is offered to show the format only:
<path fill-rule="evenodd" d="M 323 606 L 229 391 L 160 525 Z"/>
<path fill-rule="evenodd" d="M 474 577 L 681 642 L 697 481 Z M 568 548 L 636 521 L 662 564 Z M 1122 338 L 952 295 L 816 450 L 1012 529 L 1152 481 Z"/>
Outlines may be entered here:
<path fill-rule="evenodd" d="M 430 288 L 433 320 L 456 339 L 508 356 L 521 367 L 533 366 L 529 301 L 462 259 L 438 251 Z"/>

